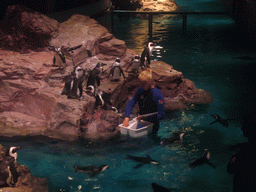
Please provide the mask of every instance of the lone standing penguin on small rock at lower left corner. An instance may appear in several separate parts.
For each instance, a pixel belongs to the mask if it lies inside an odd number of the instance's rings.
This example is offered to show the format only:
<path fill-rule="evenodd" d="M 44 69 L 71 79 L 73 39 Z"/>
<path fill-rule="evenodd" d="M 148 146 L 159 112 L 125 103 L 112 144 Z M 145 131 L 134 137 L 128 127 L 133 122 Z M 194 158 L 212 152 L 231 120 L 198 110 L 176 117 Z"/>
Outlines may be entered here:
<path fill-rule="evenodd" d="M 11 146 L 6 149 L 5 155 L 0 160 L 0 187 L 13 187 L 18 181 L 17 150 L 20 147 Z"/>

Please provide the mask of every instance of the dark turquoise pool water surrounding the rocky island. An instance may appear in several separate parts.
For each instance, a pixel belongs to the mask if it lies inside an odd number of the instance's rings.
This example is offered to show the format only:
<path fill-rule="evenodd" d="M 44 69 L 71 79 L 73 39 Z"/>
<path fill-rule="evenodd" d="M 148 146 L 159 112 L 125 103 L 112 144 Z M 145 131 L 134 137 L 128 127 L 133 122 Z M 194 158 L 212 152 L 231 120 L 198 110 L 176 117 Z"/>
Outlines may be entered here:
<path fill-rule="evenodd" d="M 223 10 L 217 1 L 177 0 L 182 10 Z M 189 110 L 167 112 L 161 121 L 161 139 L 173 131 L 185 131 L 184 144 L 174 143 L 165 148 L 150 138 L 122 139 L 115 143 L 85 144 L 82 142 L 48 142 L 44 139 L 1 142 L 4 146 L 19 145 L 18 163 L 27 165 L 37 177 L 46 177 L 49 191 L 84 192 L 151 192 L 150 184 L 158 183 L 173 191 L 232 191 L 232 175 L 226 165 L 234 151 L 229 146 L 245 141 L 239 118 L 255 107 L 255 61 L 238 56 L 255 57 L 255 49 L 239 41 L 239 33 L 228 16 L 188 16 L 187 34 L 182 34 L 180 16 L 154 18 L 153 41 L 159 46 L 152 59 L 162 60 L 181 71 L 184 78 L 212 93 L 208 105 L 191 105 Z M 147 20 L 115 16 L 114 35 L 139 54 L 148 41 Z M 229 127 L 210 123 L 210 114 L 234 119 Z M 191 169 L 188 164 L 208 149 L 210 161 L 216 166 L 203 165 Z M 146 156 L 159 165 L 143 165 L 127 155 Z M 74 165 L 109 168 L 89 178 L 75 172 Z"/>

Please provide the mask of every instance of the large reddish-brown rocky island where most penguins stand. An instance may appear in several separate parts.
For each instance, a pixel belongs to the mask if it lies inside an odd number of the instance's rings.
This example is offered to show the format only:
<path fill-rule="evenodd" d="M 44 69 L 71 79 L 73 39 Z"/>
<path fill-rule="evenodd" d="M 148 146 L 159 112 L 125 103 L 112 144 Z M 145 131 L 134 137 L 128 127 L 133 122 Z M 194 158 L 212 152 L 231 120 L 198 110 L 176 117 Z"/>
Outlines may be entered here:
<path fill-rule="evenodd" d="M 125 105 L 138 88 L 137 76 L 125 73 L 126 79 L 113 83 L 108 74 L 117 57 L 124 70 L 136 53 L 87 16 L 73 15 L 58 23 L 20 7 L 8 10 L 8 17 L 2 22 L 11 19 L 9 23 L 15 26 L 0 29 L 0 135 L 10 138 L 42 135 L 62 140 L 104 140 L 117 136 Z M 11 16 L 17 13 L 18 16 Z M 40 44 L 35 44 L 37 38 Z M 51 48 L 63 50 L 64 66 L 53 63 L 55 52 Z M 61 95 L 64 79 L 74 67 L 93 69 L 99 62 L 106 64 L 99 89 L 108 95 L 118 113 L 95 107 L 96 99 L 91 94 L 83 93 L 80 99 Z M 210 93 L 184 79 L 182 72 L 171 65 L 153 61 L 150 67 L 164 95 L 166 110 L 187 109 L 190 104 L 213 101 Z"/>

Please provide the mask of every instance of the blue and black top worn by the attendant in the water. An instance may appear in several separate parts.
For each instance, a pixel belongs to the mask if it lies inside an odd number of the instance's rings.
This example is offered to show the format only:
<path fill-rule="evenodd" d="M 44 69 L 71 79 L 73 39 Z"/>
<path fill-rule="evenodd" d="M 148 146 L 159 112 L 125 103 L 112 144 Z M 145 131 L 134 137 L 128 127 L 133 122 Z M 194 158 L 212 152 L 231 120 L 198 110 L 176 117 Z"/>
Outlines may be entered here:
<path fill-rule="evenodd" d="M 132 109 L 137 102 L 139 105 L 140 115 L 158 112 L 157 115 L 148 117 L 147 121 L 156 122 L 159 119 L 164 118 L 164 97 L 157 87 L 146 91 L 140 87 L 133 98 L 128 102 L 125 108 L 125 117 L 130 117 Z"/>

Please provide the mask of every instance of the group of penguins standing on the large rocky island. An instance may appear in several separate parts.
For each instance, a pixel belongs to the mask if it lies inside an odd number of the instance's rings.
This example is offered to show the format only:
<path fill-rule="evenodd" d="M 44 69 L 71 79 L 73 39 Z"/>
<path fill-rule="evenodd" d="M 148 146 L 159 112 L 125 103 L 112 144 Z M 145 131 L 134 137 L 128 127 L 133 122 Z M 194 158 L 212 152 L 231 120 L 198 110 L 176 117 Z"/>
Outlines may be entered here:
<path fill-rule="evenodd" d="M 143 70 L 144 67 L 149 67 L 150 57 L 152 55 L 153 48 L 154 44 L 152 42 L 149 42 L 147 47 L 143 50 L 141 57 L 139 55 L 135 55 L 135 57 L 132 59 L 131 63 L 127 67 L 126 72 L 130 68 L 130 72 L 137 74 L 139 72 L 139 68 Z M 65 62 L 65 56 L 61 52 L 61 49 L 55 49 L 55 52 L 57 52 L 59 57 L 54 57 L 54 62 L 56 63 L 57 58 L 62 62 Z M 146 64 L 145 60 L 147 61 Z M 125 75 L 121 68 L 120 62 L 120 58 L 116 58 L 108 74 L 108 78 L 112 76 L 112 82 L 120 81 L 122 76 L 125 79 Z M 83 69 L 80 66 L 76 67 L 70 75 L 65 77 L 65 85 L 61 92 L 61 95 L 67 95 L 68 99 L 79 99 L 82 97 L 83 88 L 86 87 L 88 92 L 95 97 L 96 107 L 112 107 L 112 104 L 108 99 L 109 97 L 107 96 L 107 94 L 98 88 L 100 86 L 100 75 L 103 73 L 103 66 L 105 65 L 106 64 L 100 62 L 92 70 L 88 68 Z"/>

